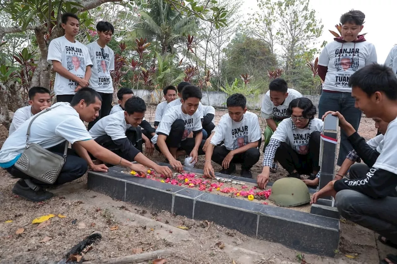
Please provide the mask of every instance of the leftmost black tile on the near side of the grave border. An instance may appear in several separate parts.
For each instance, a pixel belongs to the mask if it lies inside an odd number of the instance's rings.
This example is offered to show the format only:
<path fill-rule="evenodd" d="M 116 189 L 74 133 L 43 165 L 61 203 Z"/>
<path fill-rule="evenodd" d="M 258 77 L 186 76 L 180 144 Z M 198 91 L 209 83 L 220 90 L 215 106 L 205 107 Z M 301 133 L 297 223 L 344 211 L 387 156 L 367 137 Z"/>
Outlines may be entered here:
<path fill-rule="evenodd" d="M 124 201 L 125 182 L 122 180 L 106 177 L 106 175 L 98 172 L 89 172 L 87 186 L 88 189 Z"/>

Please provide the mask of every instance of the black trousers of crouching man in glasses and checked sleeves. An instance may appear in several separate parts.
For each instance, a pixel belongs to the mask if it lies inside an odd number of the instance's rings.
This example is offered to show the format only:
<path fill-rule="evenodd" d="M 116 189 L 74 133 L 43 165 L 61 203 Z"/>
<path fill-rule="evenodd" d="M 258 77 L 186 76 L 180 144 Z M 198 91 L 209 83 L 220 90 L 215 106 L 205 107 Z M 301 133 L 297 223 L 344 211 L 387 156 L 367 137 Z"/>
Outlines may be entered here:
<path fill-rule="evenodd" d="M 310 175 L 313 170 L 320 170 L 320 132 L 310 134 L 308 154 L 301 155 L 285 142 L 281 142 L 275 155 L 281 166 L 288 173 L 297 170 L 299 174 Z"/>

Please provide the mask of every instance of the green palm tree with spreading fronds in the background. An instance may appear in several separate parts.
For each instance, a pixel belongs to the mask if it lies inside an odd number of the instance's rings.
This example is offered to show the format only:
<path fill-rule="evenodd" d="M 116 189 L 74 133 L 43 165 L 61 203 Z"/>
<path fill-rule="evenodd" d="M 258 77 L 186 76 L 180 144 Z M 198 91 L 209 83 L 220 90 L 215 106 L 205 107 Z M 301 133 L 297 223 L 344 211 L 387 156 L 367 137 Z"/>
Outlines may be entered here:
<path fill-rule="evenodd" d="M 174 46 L 186 41 L 186 35 L 197 29 L 193 16 L 184 16 L 162 0 L 151 0 L 149 12 L 142 11 L 141 23 L 137 23 L 138 37 L 160 42 L 161 54 L 174 54 Z"/>

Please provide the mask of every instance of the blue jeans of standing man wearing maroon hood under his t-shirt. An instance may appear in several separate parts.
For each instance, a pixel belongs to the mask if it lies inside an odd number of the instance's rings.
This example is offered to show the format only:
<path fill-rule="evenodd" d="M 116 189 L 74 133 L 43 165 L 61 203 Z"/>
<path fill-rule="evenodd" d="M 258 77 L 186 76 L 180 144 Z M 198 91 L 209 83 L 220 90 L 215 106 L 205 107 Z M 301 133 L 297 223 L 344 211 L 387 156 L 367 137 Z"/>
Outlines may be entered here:
<path fill-rule="evenodd" d="M 355 99 L 351 97 L 351 93 L 329 93 L 322 92 L 318 103 L 318 118 L 321 118 L 326 111 L 339 111 L 347 122 L 349 122 L 355 130 L 358 130 L 361 119 L 361 111 L 354 107 Z M 339 157 L 337 165 L 341 166 L 346 159 L 347 154 L 353 150 L 347 136 L 341 130 L 341 143 L 339 146 Z"/>

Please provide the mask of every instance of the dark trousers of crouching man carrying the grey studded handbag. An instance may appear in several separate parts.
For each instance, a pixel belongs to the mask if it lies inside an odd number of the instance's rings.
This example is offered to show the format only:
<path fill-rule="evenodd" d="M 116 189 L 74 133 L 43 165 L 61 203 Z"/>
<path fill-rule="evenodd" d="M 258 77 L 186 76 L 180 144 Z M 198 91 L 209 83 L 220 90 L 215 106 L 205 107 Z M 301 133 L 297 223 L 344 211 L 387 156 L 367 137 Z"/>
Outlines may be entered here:
<path fill-rule="evenodd" d="M 63 144 L 63 146 L 65 146 L 65 144 Z M 62 151 L 59 151 L 61 148 L 62 148 L 62 144 L 59 144 L 55 147 L 49 148 L 48 150 L 60 156 L 63 156 L 64 149 L 62 149 Z M 73 180 L 76 180 L 81 176 L 83 176 L 87 172 L 87 169 L 88 169 L 87 161 L 79 157 L 73 149 L 68 149 L 66 161 L 54 185 L 61 185 L 66 182 L 71 182 Z M 45 182 L 41 182 L 35 178 L 31 178 L 29 175 L 15 168 L 15 166 L 11 166 L 6 170 L 16 178 L 30 179 L 37 186 L 49 186 L 49 184 Z"/>

